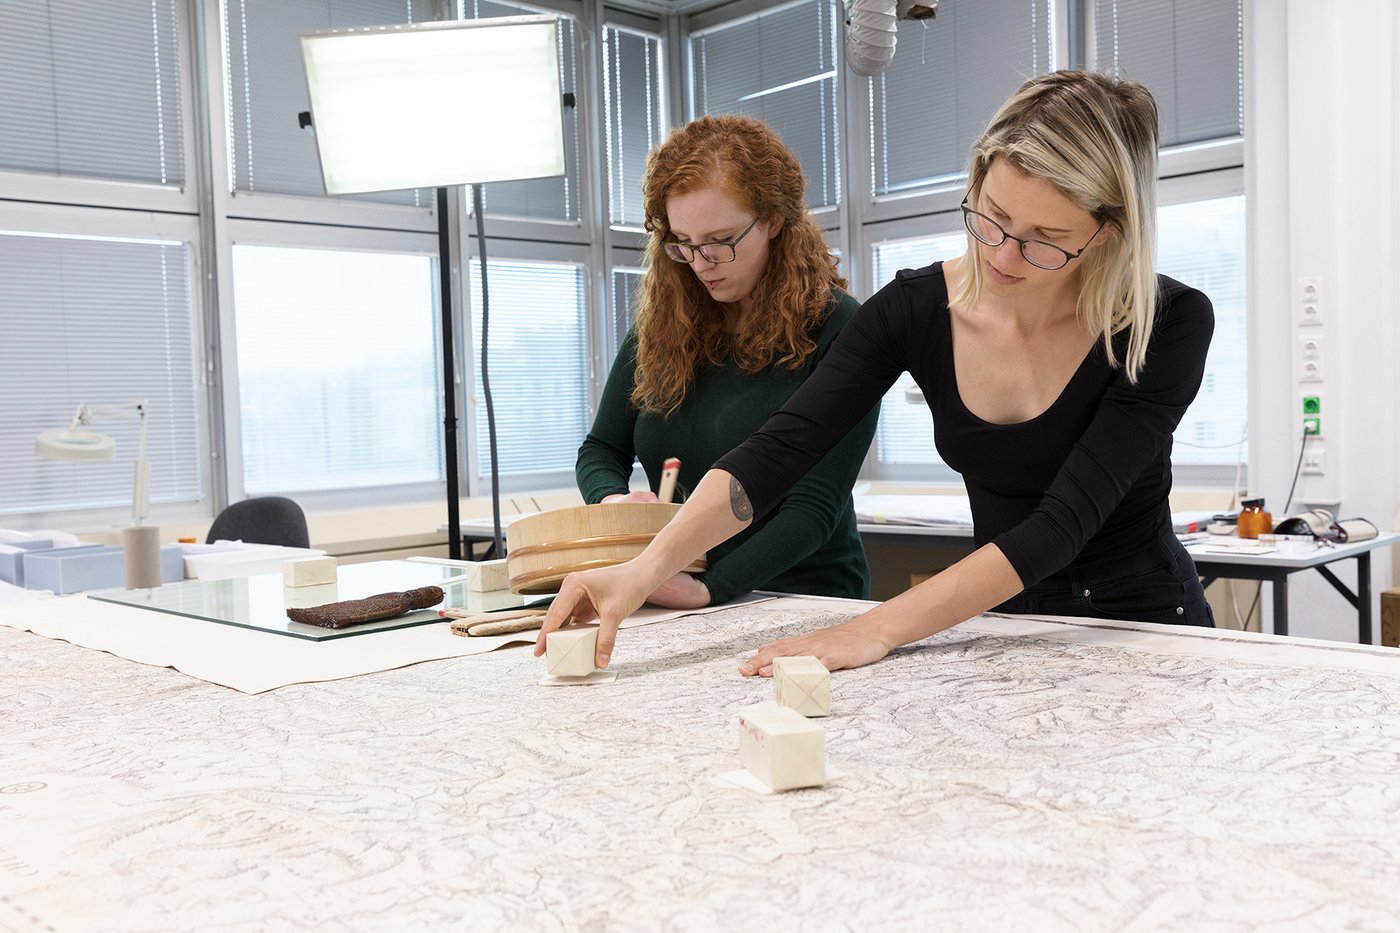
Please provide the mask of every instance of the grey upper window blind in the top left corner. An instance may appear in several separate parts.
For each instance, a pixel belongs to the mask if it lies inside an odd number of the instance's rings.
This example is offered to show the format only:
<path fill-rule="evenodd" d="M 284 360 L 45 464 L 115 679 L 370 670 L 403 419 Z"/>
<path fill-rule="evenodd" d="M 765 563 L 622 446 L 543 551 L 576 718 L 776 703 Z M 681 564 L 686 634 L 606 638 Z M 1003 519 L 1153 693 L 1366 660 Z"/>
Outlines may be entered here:
<path fill-rule="evenodd" d="M 185 6 L 0 4 L 0 167 L 183 185 Z"/>

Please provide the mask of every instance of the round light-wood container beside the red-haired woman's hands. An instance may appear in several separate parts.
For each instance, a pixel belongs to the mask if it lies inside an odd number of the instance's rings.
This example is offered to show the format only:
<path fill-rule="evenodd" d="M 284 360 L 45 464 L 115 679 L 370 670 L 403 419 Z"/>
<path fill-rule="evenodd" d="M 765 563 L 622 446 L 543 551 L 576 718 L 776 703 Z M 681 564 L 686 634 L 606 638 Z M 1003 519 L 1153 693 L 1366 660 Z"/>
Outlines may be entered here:
<path fill-rule="evenodd" d="M 609 502 L 517 518 L 505 530 L 511 593 L 557 593 L 575 570 L 631 560 L 678 511 L 668 502 Z M 704 567 L 701 558 L 686 570 Z"/>

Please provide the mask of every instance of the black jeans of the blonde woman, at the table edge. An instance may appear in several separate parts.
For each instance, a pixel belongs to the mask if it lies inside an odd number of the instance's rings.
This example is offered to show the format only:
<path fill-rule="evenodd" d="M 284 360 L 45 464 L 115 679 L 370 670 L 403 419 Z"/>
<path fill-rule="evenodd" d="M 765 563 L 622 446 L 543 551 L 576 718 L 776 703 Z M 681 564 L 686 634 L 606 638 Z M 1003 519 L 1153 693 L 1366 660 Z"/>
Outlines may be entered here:
<path fill-rule="evenodd" d="M 1071 563 L 993 611 L 1215 626 L 1196 563 L 1170 528 L 1134 553 Z"/>

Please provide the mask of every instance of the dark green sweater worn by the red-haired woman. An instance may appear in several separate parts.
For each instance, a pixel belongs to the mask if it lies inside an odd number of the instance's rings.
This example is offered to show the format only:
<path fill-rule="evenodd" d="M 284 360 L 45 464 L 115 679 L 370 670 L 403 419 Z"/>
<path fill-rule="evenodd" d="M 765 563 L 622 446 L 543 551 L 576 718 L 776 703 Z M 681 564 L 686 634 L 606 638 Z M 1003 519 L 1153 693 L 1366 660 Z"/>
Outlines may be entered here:
<path fill-rule="evenodd" d="M 797 370 L 769 367 L 743 373 L 732 361 L 701 373 L 685 402 L 669 417 L 638 415 L 631 405 L 636 384 L 637 338 L 627 333 L 594 429 L 578 448 L 574 474 L 584 502 L 626 493 L 633 461 L 647 471 L 651 490 L 661 482 L 661 464 L 680 458 L 676 500 L 700 482 L 706 471 L 756 431 L 777 412 L 826 356 L 832 340 L 860 303 L 834 293 L 830 314 L 816 338 L 816 352 Z M 865 451 L 875 437 L 876 406 L 799 481 L 787 499 L 760 516 L 741 534 L 713 548 L 701 580 L 711 604 L 727 602 L 750 590 L 816 595 L 869 595 L 869 569 L 855 531 L 851 488 Z"/>

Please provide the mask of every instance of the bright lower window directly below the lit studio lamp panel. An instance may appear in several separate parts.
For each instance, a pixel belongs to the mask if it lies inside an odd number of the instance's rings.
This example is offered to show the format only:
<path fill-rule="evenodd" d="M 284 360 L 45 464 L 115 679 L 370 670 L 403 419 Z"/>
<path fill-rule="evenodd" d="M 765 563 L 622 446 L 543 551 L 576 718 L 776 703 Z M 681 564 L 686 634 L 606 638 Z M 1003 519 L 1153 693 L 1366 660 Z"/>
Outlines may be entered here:
<path fill-rule="evenodd" d="M 442 479 L 430 256 L 234 247 L 244 492 Z"/>

